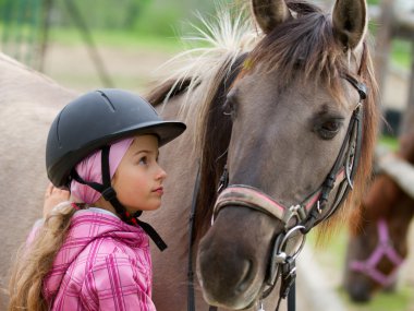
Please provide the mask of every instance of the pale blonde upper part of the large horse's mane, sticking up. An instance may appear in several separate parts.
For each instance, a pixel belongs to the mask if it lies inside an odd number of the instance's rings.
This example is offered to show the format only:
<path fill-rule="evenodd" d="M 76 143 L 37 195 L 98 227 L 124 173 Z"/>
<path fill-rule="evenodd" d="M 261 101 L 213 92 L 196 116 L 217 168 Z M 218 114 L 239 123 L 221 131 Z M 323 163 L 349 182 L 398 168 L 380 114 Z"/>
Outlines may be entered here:
<path fill-rule="evenodd" d="M 216 16 L 204 17 L 196 13 L 200 25 L 190 23 L 194 32 L 181 37 L 185 50 L 157 70 L 169 74 L 158 79 L 162 81 L 161 86 L 147 96 L 153 105 L 167 105 L 176 89 L 185 88 L 181 118 L 184 122 L 191 118 L 193 122 L 196 116 L 196 120 L 203 121 L 220 82 L 230 74 L 235 60 L 251 51 L 261 38 L 248 5 L 228 7 L 217 4 Z M 195 142 L 199 142 L 200 136 L 203 133 L 195 133 Z"/>

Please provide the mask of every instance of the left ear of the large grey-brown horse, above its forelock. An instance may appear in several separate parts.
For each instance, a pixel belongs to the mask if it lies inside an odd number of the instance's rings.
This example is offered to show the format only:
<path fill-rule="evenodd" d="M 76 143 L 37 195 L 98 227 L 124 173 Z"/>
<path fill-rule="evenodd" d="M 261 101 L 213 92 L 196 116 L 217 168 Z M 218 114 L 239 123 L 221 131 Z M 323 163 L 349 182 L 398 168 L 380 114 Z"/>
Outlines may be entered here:
<path fill-rule="evenodd" d="M 292 17 L 284 0 L 252 0 L 253 13 L 265 34 Z"/>

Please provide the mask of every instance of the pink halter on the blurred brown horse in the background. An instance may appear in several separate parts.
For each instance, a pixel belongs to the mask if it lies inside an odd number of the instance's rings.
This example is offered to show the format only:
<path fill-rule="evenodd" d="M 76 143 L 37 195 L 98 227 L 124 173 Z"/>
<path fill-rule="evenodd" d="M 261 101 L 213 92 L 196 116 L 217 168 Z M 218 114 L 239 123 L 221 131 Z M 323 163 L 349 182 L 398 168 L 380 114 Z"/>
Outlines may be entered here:
<path fill-rule="evenodd" d="M 366 260 L 354 260 L 350 263 L 350 270 L 356 273 L 365 274 L 382 287 L 391 285 L 395 280 L 398 267 L 404 259 L 395 251 L 388 231 L 387 222 L 378 219 L 377 222 L 378 243 L 373 253 Z M 388 259 L 394 266 L 390 275 L 386 275 L 378 270 L 378 263 Z"/>

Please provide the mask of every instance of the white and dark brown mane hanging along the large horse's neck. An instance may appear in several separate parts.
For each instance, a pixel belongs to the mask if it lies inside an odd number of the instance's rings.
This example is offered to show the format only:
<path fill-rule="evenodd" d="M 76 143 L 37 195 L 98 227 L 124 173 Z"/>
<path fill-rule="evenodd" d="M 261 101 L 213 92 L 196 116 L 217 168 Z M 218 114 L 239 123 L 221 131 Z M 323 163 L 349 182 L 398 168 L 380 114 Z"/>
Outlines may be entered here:
<path fill-rule="evenodd" d="M 193 25 L 196 34 L 183 37 L 183 40 L 202 44 L 202 47 L 187 49 L 168 61 L 163 67 L 174 70 L 165 70 L 170 74 L 146 96 L 149 103 L 159 106 L 168 105 L 168 100 L 181 95 L 181 117 L 187 124 L 195 123 L 194 153 L 199 159 L 200 175 L 196 234 L 208 223 L 206 219 L 210 217 L 217 183 L 227 160 L 222 154 L 230 141 L 231 122 L 217 111 L 230 86 L 227 82 L 236 70 L 234 64 L 261 36 L 247 5 L 228 8 L 219 4 L 217 17 L 198 17 L 202 27 Z"/>

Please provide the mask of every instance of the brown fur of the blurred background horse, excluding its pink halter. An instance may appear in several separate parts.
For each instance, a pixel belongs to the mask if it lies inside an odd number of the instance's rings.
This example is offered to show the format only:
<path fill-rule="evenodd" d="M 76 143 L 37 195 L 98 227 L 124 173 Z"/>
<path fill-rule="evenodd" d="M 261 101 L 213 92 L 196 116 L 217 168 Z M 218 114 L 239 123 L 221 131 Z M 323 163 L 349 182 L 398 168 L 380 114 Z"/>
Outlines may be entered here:
<path fill-rule="evenodd" d="M 400 137 L 398 157 L 414 164 L 414 133 L 404 133 Z M 414 217 L 414 199 L 403 192 L 399 186 L 387 175 L 377 175 L 373 184 L 366 192 L 358 210 L 361 215 L 354 218 L 350 228 L 350 241 L 345 263 L 344 286 L 352 299 L 356 301 L 369 300 L 382 286 L 362 273 L 350 271 L 349 263 L 353 260 L 368 258 L 377 247 L 377 222 L 385 219 L 388 227 L 392 247 L 401 258 L 409 252 L 409 226 Z M 378 271 L 390 275 L 394 265 L 380 262 Z"/>

